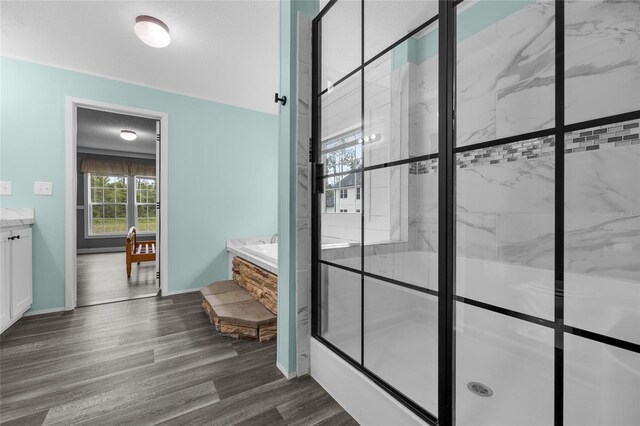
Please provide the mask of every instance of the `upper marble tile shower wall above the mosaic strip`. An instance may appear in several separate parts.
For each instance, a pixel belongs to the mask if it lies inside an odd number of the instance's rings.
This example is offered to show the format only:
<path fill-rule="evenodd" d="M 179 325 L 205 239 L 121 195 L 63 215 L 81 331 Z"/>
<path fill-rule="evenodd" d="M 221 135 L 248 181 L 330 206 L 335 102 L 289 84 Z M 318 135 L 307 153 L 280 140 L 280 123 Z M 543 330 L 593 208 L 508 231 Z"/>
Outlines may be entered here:
<path fill-rule="evenodd" d="M 538 0 L 458 44 L 458 146 L 553 126 L 554 21 L 553 2 Z M 640 109 L 629 90 L 640 87 L 638 34 L 637 1 L 565 3 L 568 124 Z M 434 64 L 420 65 L 424 106 L 436 99 Z"/>

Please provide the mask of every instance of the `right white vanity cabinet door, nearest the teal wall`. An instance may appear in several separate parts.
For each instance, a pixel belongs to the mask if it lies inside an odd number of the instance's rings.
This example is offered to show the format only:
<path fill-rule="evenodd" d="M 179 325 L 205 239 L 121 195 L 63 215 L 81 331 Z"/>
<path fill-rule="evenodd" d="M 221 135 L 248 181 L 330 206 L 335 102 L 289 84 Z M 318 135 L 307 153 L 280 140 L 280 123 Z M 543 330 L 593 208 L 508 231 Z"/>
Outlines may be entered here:
<path fill-rule="evenodd" d="M 11 317 L 22 315 L 33 301 L 31 228 L 13 231 L 11 241 Z"/>

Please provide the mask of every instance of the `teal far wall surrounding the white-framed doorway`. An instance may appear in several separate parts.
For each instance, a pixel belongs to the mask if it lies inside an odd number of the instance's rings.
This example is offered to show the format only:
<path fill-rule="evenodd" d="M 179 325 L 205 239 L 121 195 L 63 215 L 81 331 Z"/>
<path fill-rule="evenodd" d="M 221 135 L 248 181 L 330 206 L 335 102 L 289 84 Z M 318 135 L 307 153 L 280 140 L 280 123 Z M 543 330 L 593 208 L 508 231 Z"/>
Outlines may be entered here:
<path fill-rule="evenodd" d="M 276 115 L 3 57 L 0 177 L 13 195 L 0 203 L 36 209 L 32 310 L 64 307 L 66 96 L 169 114 L 170 292 L 226 279 L 226 238 L 276 231 Z M 53 196 L 34 196 L 34 181 Z"/>

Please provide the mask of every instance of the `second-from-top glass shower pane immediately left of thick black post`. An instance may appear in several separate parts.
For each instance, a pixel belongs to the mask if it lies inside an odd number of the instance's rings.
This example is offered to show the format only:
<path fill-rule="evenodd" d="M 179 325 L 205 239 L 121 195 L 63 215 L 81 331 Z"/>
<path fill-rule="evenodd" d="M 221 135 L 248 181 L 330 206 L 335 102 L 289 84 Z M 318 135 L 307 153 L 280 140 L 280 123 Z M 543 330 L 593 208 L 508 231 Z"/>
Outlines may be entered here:
<path fill-rule="evenodd" d="M 416 43 L 431 40 L 433 24 Z M 415 40 L 415 39 L 411 39 Z M 437 49 L 420 61 L 398 59 L 405 43 L 365 68 L 365 166 L 405 160 L 438 150 Z"/>

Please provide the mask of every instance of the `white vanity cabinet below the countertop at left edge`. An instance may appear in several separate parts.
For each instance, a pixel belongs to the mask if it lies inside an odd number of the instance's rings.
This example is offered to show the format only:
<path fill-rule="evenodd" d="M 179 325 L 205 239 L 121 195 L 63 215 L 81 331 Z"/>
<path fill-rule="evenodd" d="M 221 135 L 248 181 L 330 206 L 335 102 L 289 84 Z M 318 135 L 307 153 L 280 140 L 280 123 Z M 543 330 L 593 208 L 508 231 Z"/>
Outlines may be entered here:
<path fill-rule="evenodd" d="M 30 226 L 2 229 L 0 240 L 0 333 L 31 307 L 32 230 Z"/>

